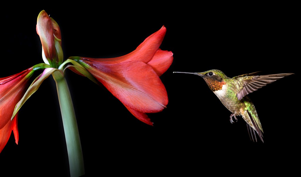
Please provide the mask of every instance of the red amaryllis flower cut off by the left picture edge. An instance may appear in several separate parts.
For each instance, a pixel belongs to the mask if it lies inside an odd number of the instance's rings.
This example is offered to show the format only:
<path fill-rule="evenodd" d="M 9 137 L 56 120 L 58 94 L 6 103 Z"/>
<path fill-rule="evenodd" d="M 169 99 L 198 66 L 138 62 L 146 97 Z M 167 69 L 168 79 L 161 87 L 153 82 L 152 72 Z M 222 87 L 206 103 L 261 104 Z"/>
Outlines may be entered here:
<path fill-rule="evenodd" d="M 33 68 L 26 69 L 18 74 L 0 78 L 0 153 L 14 132 L 16 143 L 18 144 L 19 134 L 17 127 L 17 115 L 11 121 L 16 104 L 24 95 L 30 72 Z"/>

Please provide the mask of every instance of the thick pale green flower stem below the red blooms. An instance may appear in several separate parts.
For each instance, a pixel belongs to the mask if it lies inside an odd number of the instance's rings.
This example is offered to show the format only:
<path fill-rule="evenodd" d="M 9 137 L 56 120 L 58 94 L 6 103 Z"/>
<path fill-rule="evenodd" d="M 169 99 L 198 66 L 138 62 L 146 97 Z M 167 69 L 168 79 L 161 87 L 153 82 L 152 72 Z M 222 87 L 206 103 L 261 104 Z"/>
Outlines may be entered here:
<path fill-rule="evenodd" d="M 70 176 L 78 177 L 85 174 L 85 169 L 82 146 L 69 87 L 63 72 L 54 72 L 52 75 L 57 85 L 57 95 L 61 107 L 69 158 Z"/>

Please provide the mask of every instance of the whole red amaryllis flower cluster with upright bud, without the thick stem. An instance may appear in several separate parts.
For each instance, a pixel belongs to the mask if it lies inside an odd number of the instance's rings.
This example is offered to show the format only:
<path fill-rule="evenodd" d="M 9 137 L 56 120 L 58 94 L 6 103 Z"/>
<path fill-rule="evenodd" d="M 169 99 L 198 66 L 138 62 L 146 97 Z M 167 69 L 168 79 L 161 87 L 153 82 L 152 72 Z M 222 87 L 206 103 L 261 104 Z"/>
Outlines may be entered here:
<path fill-rule="evenodd" d="M 166 108 L 168 97 L 160 76 L 172 64 L 173 54 L 159 48 L 166 33 L 164 26 L 127 55 L 116 58 L 73 56 L 66 60 L 61 47 L 60 27 L 45 11 L 41 11 L 37 18 L 36 31 L 42 43 L 44 63 L 0 78 L 0 153 L 11 131 L 18 143 L 17 116 L 21 106 L 51 74 L 64 78 L 66 68 L 102 84 L 137 119 L 148 125 L 153 123 L 147 113 Z M 38 70 L 43 72 L 32 81 L 31 76 Z"/>

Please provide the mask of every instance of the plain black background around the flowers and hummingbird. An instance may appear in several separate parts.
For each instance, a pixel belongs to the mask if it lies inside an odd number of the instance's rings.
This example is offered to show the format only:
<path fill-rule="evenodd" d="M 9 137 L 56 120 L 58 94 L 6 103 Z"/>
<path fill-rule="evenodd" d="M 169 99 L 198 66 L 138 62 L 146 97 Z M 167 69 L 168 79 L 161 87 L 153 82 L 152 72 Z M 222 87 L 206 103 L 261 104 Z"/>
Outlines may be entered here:
<path fill-rule="evenodd" d="M 65 58 L 125 55 L 163 25 L 167 28 L 160 48 L 172 51 L 174 61 L 160 78 L 169 104 L 162 112 L 148 114 L 153 127 L 136 119 L 107 90 L 66 71 L 85 176 L 216 174 L 221 168 L 226 169 L 223 173 L 239 168 L 294 169 L 290 158 L 299 156 L 296 141 L 300 139 L 300 29 L 294 5 L 95 6 L 8 8 L 1 13 L 0 77 L 43 62 L 36 34 L 41 10 L 59 24 Z M 228 77 L 255 71 L 295 73 L 249 94 L 262 123 L 264 143 L 250 141 L 243 119 L 230 123 L 231 112 L 201 77 L 172 73 L 210 69 L 222 70 Z M 39 74 L 37 71 L 35 76 Z M 0 154 L 1 171 L 12 175 L 69 175 L 51 76 L 20 109 L 18 128 L 19 144 L 14 143 L 12 134 Z"/>

